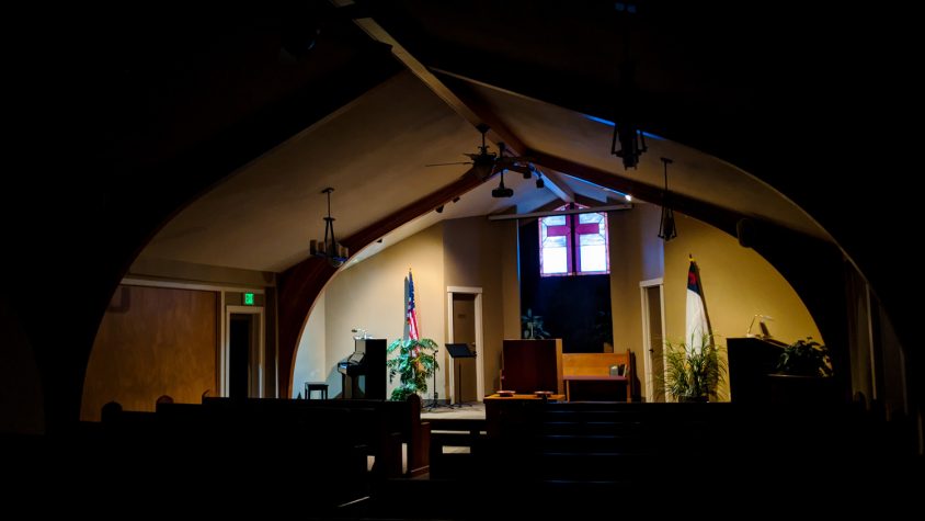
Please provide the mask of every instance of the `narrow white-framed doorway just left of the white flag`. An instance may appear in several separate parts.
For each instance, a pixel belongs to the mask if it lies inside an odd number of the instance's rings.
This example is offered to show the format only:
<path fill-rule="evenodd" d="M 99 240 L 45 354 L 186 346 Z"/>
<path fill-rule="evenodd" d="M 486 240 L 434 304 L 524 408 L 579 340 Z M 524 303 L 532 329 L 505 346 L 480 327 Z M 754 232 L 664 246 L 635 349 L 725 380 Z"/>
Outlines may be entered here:
<path fill-rule="evenodd" d="M 660 382 L 665 375 L 664 339 L 665 307 L 664 283 L 652 279 L 639 283 L 642 293 L 642 348 L 646 352 L 646 400 L 664 401 Z"/>

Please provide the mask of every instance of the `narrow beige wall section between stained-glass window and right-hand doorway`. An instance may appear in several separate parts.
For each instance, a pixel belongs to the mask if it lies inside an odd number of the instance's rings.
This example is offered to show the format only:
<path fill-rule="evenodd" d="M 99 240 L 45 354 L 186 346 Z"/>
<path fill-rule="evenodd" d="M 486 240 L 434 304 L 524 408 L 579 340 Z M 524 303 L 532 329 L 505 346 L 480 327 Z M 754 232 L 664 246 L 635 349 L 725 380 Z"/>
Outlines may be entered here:
<path fill-rule="evenodd" d="M 661 209 L 646 203 L 632 209 L 610 212 L 607 220 L 610 240 L 610 313 L 614 321 L 614 351 L 636 355 L 639 392 L 646 392 L 642 349 L 641 281 L 664 273 L 664 248 L 659 238 Z"/>

